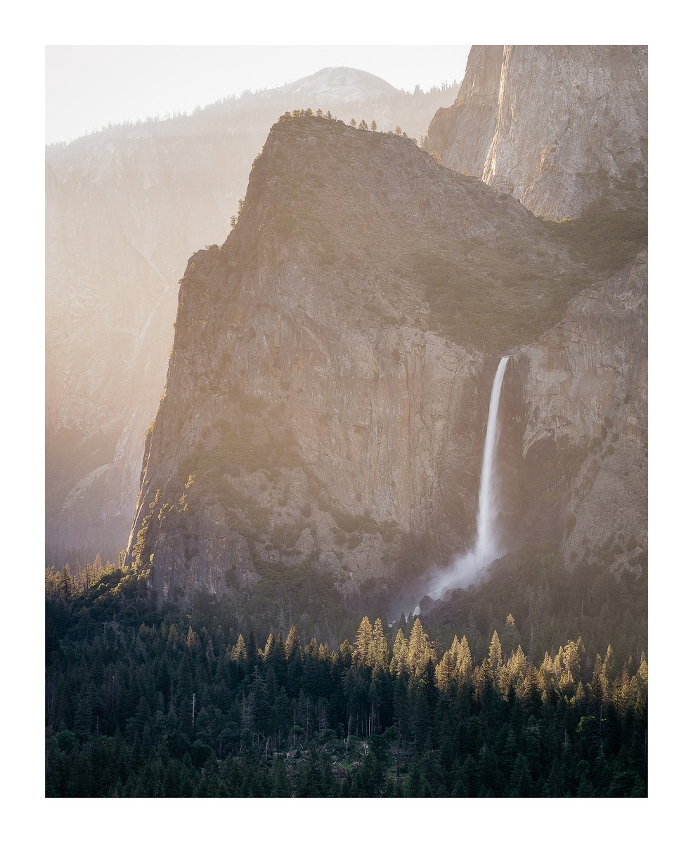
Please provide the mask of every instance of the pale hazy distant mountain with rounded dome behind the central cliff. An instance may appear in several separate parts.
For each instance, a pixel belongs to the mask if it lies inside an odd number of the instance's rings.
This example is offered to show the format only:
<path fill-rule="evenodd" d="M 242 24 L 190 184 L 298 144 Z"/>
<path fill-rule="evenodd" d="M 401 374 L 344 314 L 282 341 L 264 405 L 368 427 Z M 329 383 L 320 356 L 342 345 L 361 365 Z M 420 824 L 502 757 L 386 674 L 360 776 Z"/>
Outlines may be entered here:
<path fill-rule="evenodd" d="M 277 115 L 331 108 L 418 136 L 450 91 L 405 94 L 349 68 L 194 115 L 46 150 L 46 550 L 126 545 L 142 442 L 164 388 L 177 282 L 222 242 Z"/>

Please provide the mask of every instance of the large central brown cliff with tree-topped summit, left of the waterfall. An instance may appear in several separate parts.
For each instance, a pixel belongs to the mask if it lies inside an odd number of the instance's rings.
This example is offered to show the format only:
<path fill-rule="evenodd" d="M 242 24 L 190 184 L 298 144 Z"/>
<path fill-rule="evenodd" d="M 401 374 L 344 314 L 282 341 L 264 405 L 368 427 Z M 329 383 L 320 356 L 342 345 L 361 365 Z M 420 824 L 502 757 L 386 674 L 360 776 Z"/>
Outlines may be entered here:
<path fill-rule="evenodd" d="M 352 592 L 467 545 L 497 352 L 538 341 L 586 273 L 519 202 L 411 141 L 280 122 L 237 228 L 185 271 L 130 560 L 187 600 L 266 560 Z"/>

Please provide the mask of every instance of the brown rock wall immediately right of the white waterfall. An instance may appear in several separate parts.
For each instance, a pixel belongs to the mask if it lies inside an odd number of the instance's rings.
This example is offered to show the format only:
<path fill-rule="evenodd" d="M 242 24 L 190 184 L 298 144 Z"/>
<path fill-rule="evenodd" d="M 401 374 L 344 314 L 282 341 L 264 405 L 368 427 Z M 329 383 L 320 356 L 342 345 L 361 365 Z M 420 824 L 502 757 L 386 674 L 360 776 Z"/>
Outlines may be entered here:
<path fill-rule="evenodd" d="M 553 540 L 569 564 L 637 559 L 647 550 L 645 253 L 577 295 L 518 354 L 510 391 L 524 407 L 515 498 L 524 540 Z"/>

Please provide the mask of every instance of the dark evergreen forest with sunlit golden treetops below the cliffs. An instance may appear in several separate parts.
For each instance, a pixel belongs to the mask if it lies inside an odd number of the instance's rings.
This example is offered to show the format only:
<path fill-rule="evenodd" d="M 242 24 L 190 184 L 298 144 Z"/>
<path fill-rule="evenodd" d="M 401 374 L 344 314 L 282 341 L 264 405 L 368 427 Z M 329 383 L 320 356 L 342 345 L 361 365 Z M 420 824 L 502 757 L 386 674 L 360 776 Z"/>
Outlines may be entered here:
<path fill-rule="evenodd" d="M 477 658 L 426 622 L 337 645 L 48 569 L 46 796 L 647 796 L 644 653 L 578 636 L 533 662 L 508 615 Z"/>

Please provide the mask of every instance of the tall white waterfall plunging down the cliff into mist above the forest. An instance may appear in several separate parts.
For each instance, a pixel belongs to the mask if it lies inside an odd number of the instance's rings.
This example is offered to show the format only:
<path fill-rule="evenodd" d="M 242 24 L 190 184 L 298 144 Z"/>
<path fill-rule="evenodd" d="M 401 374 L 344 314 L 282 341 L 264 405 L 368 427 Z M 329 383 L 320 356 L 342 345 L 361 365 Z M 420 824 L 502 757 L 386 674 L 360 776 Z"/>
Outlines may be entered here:
<path fill-rule="evenodd" d="M 481 463 L 481 484 L 479 486 L 479 507 L 476 512 L 476 541 L 474 549 L 464 556 L 456 556 L 454 564 L 445 571 L 437 572 L 428 586 L 428 594 L 437 600 L 449 588 L 464 588 L 473 583 L 477 575 L 494 559 L 501 555 L 501 545 L 496 529 L 498 518 L 497 446 L 500 435 L 498 405 L 501 401 L 503 375 L 508 357 L 502 357 L 493 379 L 491 400 L 488 404 L 488 422 L 484 458 Z"/>

